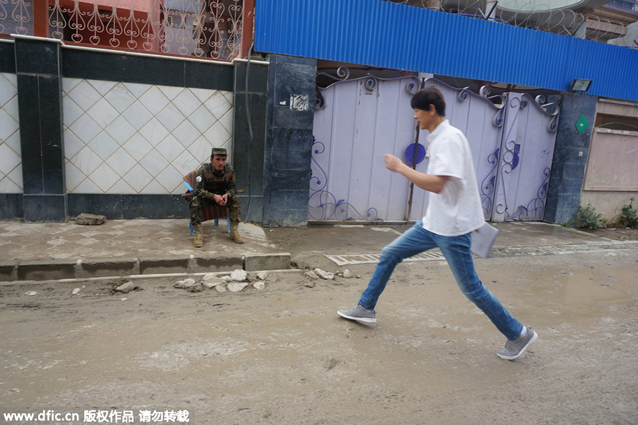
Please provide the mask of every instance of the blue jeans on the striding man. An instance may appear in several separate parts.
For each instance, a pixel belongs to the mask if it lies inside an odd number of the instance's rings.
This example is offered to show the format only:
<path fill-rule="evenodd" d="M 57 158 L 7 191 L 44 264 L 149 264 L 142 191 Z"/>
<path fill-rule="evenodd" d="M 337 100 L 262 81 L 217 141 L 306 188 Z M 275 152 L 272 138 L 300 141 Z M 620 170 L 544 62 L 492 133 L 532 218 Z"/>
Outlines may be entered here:
<path fill-rule="evenodd" d="M 427 249 L 439 247 L 457 280 L 461 292 L 483 310 L 508 339 L 516 339 L 523 329 L 500 301 L 478 279 L 471 254 L 471 232 L 461 236 L 441 236 L 423 228 L 421 220 L 381 250 L 381 259 L 359 300 L 359 305 L 374 310 L 377 300 L 398 263 Z"/>

